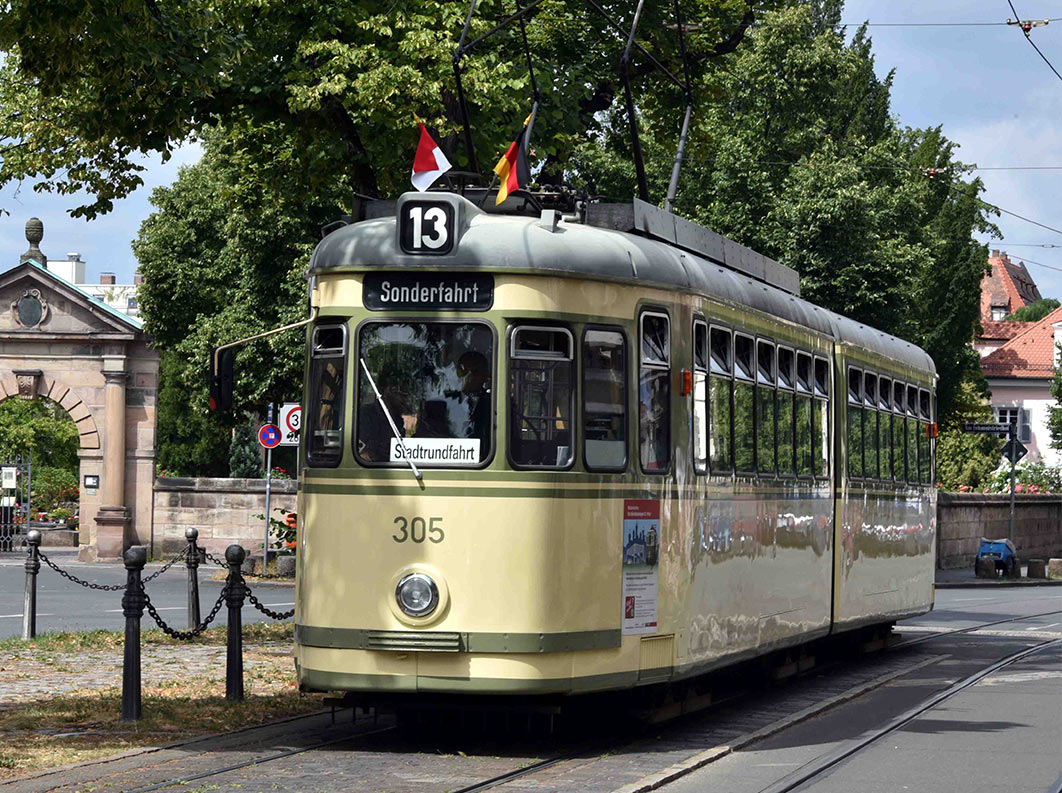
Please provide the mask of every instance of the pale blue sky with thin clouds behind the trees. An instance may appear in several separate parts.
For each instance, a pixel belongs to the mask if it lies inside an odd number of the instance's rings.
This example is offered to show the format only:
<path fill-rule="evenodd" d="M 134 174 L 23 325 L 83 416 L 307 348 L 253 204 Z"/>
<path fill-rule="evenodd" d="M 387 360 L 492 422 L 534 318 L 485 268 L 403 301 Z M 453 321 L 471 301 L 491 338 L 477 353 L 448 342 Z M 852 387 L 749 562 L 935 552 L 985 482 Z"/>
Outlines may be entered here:
<path fill-rule="evenodd" d="M 1058 0 L 1013 2 L 1022 19 L 1062 17 Z M 942 126 L 960 146 L 957 157 L 982 169 L 1059 169 L 977 174 L 987 188 L 984 201 L 1059 229 L 1001 214 L 994 222 L 1004 239 L 983 241 L 1026 261 L 1041 294 L 1062 299 L 1062 79 L 1017 28 L 955 24 L 1000 23 L 1013 17 L 1007 0 L 849 0 L 842 20 L 871 22 L 878 74 L 895 70 L 892 111 L 902 124 Z M 904 27 L 892 27 L 896 23 Z M 912 27 L 924 23 L 936 25 Z M 1062 72 L 1062 19 L 1034 29 L 1032 38 Z M 0 190 L 0 208 L 11 213 L 0 218 L 0 256 L 17 262 L 27 248 L 25 221 L 38 217 L 45 222 L 41 249 L 49 258 L 78 252 L 87 262 L 89 281 L 113 272 L 119 283 L 132 282 L 136 259 L 130 243 L 152 211 L 152 189 L 171 184 L 178 168 L 200 155 L 200 148 L 189 144 L 165 165 L 158 158 L 145 160 L 144 186 L 116 202 L 109 214 L 89 222 L 67 214 L 75 205 L 73 196 L 34 193 L 28 185 Z"/>

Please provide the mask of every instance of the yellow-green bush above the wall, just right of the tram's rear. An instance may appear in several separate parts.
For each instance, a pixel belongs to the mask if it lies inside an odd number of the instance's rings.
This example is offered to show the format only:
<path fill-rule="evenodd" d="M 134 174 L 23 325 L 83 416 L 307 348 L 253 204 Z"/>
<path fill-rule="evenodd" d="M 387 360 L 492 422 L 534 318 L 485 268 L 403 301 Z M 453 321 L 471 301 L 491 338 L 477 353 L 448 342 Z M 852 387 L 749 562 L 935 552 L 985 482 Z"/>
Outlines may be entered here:
<path fill-rule="evenodd" d="M 937 482 L 945 490 L 980 489 L 999 465 L 1004 441 L 963 432 L 963 424 L 993 423 L 983 377 L 967 375 L 937 438 Z"/>

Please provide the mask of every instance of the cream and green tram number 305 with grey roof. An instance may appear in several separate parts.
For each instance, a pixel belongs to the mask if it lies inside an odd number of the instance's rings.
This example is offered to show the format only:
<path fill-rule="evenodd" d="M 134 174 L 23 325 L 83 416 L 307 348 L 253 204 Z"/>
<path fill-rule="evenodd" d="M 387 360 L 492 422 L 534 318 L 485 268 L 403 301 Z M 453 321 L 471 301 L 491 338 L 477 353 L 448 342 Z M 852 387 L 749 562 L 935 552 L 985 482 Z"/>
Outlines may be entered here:
<path fill-rule="evenodd" d="M 932 361 L 792 271 L 432 192 L 309 278 L 305 690 L 632 688 L 932 607 Z"/>

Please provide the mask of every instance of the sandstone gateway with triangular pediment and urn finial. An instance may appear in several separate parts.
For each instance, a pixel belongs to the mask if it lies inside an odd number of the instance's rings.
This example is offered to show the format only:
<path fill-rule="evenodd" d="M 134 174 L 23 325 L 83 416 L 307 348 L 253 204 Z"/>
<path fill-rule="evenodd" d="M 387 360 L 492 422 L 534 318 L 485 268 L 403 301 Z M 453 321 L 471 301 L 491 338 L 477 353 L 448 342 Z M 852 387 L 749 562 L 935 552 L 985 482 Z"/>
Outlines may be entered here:
<path fill-rule="evenodd" d="M 138 320 L 48 270 L 41 236 L 27 224 L 30 251 L 0 272 L 0 400 L 44 397 L 73 419 L 79 556 L 116 558 L 152 540 L 158 355 Z"/>

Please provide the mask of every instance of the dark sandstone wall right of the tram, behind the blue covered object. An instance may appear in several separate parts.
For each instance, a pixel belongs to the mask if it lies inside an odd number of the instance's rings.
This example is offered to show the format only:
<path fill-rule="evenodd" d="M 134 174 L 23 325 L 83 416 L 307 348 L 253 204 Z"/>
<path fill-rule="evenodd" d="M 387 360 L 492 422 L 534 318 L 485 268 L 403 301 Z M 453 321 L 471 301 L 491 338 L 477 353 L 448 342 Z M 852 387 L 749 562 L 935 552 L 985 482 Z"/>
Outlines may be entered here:
<path fill-rule="evenodd" d="M 1018 558 L 1062 556 L 1062 496 L 1014 499 L 1014 547 Z M 1010 496 L 940 493 L 937 497 L 937 566 L 973 567 L 981 537 L 1010 533 Z"/>

